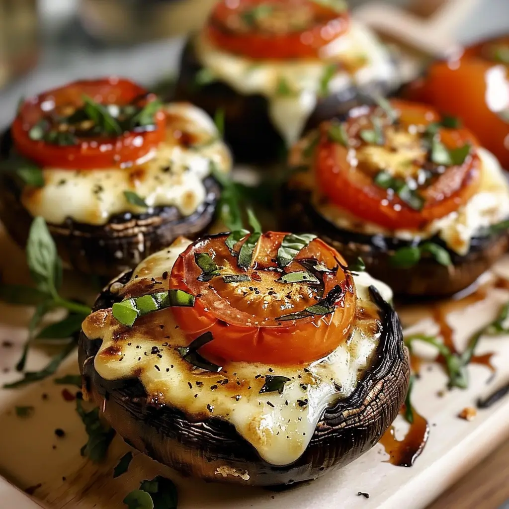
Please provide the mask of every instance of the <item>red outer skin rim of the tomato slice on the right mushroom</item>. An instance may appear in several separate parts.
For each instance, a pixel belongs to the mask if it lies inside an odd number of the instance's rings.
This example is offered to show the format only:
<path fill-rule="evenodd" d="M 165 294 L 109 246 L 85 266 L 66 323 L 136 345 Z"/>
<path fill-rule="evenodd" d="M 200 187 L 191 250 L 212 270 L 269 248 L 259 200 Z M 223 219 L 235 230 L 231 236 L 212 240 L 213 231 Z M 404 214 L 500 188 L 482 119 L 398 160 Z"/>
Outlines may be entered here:
<path fill-rule="evenodd" d="M 435 110 L 418 103 L 392 100 L 393 108 L 401 112 L 400 124 L 427 126 L 439 120 Z M 375 108 L 367 112 L 370 114 Z M 362 116 L 365 115 L 365 112 Z M 350 135 L 357 135 L 360 127 L 357 117 L 347 122 Z M 415 210 L 397 195 L 377 186 L 371 175 L 366 175 L 349 162 L 349 148 L 333 143 L 327 123 L 321 126 L 321 137 L 315 156 L 315 175 L 321 192 L 335 205 L 347 209 L 356 217 L 381 225 L 388 230 L 419 230 L 430 221 L 458 209 L 477 190 L 480 179 L 480 161 L 476 153 L 467 157 L 461 166 L 451 166 L 445 173 L 421 192 L 425 199 L 422 210 Z M 477 145 L 476 139 L 465 129 L 439 131 L 442 143 L 459 147 L 465 143 Z"/>

